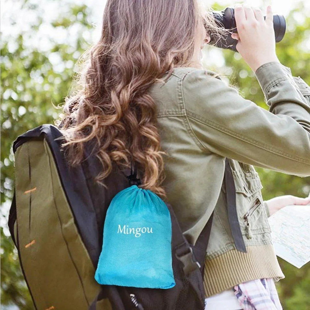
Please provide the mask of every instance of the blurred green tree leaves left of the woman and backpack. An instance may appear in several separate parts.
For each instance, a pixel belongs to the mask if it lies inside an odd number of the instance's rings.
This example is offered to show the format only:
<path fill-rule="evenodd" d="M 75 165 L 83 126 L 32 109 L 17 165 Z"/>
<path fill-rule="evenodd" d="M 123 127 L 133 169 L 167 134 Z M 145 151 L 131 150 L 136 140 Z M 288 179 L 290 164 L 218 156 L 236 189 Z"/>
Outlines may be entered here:
<path fill-rule="evenodd" d="M 60 4 L 60 1 L 59 1 Z M 67 5 L 68 6 L 68 5 Z M 22 9 L 38 10 L 24 1 Z M 64 10 L 61 10 L 62 12 Z M 89 46 L 83 32 L 92 28 L 86 5 L 68 6 L 51 26 L 64 29 L 70 36 L 76 31 L 75 45 L 58 43 L 49 38 L 52 48 L 38 51 L 29 48 L 29 32 L 21 31 L 16 40 L 1 33 L 1 304 L 15 304 L 20 309 L 33 309 L 33 303 L 20 269 L 17 251 L 7 228 L 8 209 L 14 188 L 14 157 L 11 146 L 16 137 L 44 123 L 54 123 L 58 110 L 53 105 L 64 101 L 70 89 L 73 66 Z M 12 21 L 14 24 L 14 21 Z M 39 13 L 31 24 L 30 37 L 35 38 L 43 20 Z M 69 39 L 67 40 L 69 42 Z"/>

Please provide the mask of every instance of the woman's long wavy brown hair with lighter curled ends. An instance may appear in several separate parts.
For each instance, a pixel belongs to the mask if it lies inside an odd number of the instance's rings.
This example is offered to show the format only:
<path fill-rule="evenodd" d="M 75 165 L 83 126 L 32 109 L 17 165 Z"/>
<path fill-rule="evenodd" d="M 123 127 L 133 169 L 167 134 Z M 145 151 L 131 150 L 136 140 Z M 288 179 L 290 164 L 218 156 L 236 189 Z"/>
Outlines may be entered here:
<path fill-rule="evenodd" d="M 133 160 L 143 176 L 141 186 L 166 197 L 161 186 L 166 153 L 147 90 L 175 67 L 191 66 L 200 22 L 213 38 L 220 34 L 199 0 L 107 1 L 101 38 L 80 58 L 81 69 L 55 122 L 70 165 L 80 164 L 85 144 L 95 141 L 103 166 L 96 182 L 105 186 L 113 163 L 122 169 Z"/>

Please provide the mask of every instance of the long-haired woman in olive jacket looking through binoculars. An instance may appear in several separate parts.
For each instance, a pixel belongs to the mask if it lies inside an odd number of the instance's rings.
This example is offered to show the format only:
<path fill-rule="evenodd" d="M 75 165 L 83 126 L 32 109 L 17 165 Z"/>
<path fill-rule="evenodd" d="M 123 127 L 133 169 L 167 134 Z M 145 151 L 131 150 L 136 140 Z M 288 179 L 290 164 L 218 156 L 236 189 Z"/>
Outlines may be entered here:
<path fill-rule="evenodd" d="M 66 98 L 61 130 L 72 165 L 82 161 L 84 144 L 94 141 L 103 166 L 98 182 L 104 184 L 114 164 L 125 169 L 131 159 L 138 163 L 143 188 L 171 203 L 192 244 L 214 211 L 206 309 L 281 309 L 273 281 L 284 275 L 268 214 L 309 199 L 263 201 L 252 165 L 310 175 L 309 94 L 277 58 L 271 7 L 264 20 L 259 9 L 239 5 L 235 19 L 237 50 L 255 72 L 269 111 L 202 69 L 201 48 L 224 30 L 197 0 L 109 0 L 80 88 Z M 237 249 L 229 228 L 226 157 L 245 251 Z M 259 302 L 253 300 L 256 290 L 263 296 Z"/>

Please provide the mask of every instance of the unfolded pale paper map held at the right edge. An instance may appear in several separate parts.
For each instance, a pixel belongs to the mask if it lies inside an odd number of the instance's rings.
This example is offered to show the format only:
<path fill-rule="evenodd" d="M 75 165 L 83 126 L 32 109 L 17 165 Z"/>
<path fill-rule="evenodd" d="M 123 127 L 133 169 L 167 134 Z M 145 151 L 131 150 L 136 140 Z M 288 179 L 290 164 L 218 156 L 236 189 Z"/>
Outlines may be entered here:
<path fill-rule="evenodd" d="M 310 206 L 286 206 L 269 217 L 277 256 L 297 268 L 310 261 Z"/>

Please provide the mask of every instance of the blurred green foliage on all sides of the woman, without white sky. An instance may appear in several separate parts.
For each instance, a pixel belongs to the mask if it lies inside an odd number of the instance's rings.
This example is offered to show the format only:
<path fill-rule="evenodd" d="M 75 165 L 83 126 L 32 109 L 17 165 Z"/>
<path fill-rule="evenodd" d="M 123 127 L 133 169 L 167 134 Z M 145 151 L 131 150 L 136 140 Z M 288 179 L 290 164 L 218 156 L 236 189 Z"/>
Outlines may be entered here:
<path fill-rule="evenodd" d="M 28 6 L 28 7 L 27 7 Z M 228 6 L 228 5 L 227 5 Z M 227 6 L 215 5 L 220 10 Z M 24 0 L 23 7 L 37 10 Z M 303 2 L 296 3 L 295 9 L 287 16 L 287 32 L 284 39 L 277 43 L 277 55 L 282 64 L 290 67 L 294 76 L 300 75 L 310 84 L 309 51 L 305 41 L 309 38 L 310 14 Z M 38 51 L 28 47 L 25 42 L 26 31 L 21 31 L 15 40 L 15 48 L 10 41 L 1 38 L 1 217 L 7 222 L 8 204 L 14 188 L 14 157 L 11 146 L 15 138 L 23 132 L 44 123 L 53 123 L 58 111 L 53 107 L 64 101 L 70 89 L 73 65 L 88 47 L 83 39 L 83 31 L 91 29 L 88 20 L 90 12 L 86 6 L 69 7 L 64 16 L 51 22 L 56 31 L 64 29 L 68 33 L 73 26 L 78 26 L 76 45 L 58 43 L 50 39 L 52 47 L 48 51 Z M 42 25 L 41 16 L 31 25 L 31 36 Z M 66 41 L 67 42 L 67 41 Z M 208 47 L 207 55 L 219 51 Z M 263 108 L 263 93 L 252 70 L 238 53 L 220 51 L 224 55 L 225 66 L 210 67 L 230 77 L 241 95 L 254 101 Z M 210 56 L 211 57 L 211 56 Z M 55 59 L 59 64 L 55 64 Z M 208 60 L 208 57 L 207 57 Z M 275 196 L 292 194 L 305 197 L 310 190 L 310 178 L 299 178 L 274 171 L 257 168 L 263 183 L 263 197 L 268 200 Z M 33 309 L 30 294 L 25 286 L 20 270 L 18 255 L 11 238 L 7 237 L 7 225 L 1 228 L 1 303 L 15 304 L 20 309 Z M 285 310 L 306 310 L 310 308 L 308 290 L 310 287 L 310 264 L 297 269 L 279 259 L 286 278 L 277 283 L 278 292 Z"/>

